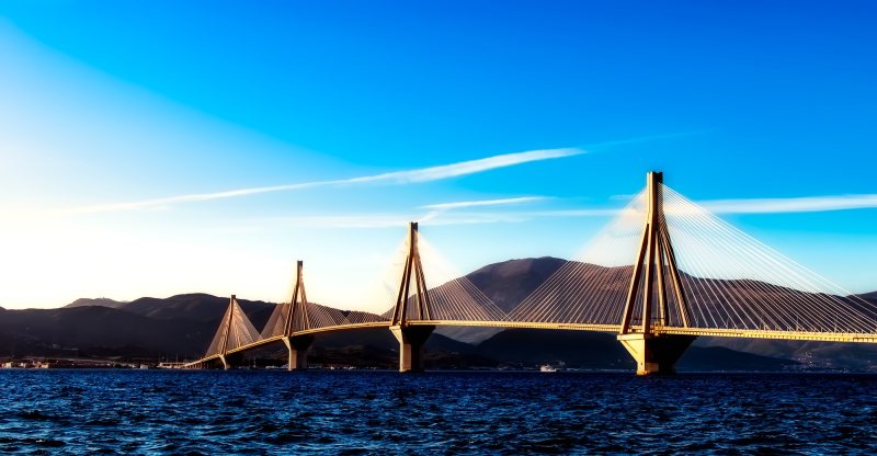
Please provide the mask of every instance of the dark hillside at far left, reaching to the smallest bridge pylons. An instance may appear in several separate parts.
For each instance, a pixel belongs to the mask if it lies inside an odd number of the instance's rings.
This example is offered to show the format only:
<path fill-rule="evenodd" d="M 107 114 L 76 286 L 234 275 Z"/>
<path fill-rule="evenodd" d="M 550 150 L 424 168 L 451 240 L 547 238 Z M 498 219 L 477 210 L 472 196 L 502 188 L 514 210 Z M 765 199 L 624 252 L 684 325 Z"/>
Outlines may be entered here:
<path fill-rule="evenodd" d="M 197 357 L 228 307 L 227 297 L 176 295 L 166 299 L 77 299 L 58 309 L 0 310 L 0 356 L 101 355 Z M 240 299 L 257 328 L 274 306 Z"/>

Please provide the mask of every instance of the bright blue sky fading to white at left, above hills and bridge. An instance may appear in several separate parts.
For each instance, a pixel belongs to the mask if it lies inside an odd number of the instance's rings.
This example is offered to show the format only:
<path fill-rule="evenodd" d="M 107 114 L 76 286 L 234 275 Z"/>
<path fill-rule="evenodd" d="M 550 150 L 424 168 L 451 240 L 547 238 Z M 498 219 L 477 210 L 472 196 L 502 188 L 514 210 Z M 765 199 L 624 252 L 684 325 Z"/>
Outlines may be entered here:
<path fill-rule="evenodd" d="M 0 306 L 280 301 L 304 260 L 310 300 L 383 310 L 362 290 L 407 221 L 460 274 L 572 258 L 651 170 L 875 290 L 875 21 L 870 1 L 1 1 Z"/>

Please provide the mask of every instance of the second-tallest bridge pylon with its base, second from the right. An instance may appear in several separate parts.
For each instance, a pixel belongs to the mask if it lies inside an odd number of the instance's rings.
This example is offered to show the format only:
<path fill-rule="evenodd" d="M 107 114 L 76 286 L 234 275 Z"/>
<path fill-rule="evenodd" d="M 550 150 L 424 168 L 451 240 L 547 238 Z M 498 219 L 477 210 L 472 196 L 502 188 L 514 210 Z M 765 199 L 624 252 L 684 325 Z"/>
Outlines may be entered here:
<path fill-rule="evenodd" d="M 411 296 L 412 290 L 413 296 Z M 414 307 L 410 308 L 411 305 Z M 411 321 L 432 320 L 431 308 L 423 263 L 418 249 L 418 224 L 412 221 L 408 225 L 408 255 L 390 323 L 390 331 L 399 341 L 399 372 L 423 371 L 423 345 L 435 330 L 435 326 L 411 326 Z"/>

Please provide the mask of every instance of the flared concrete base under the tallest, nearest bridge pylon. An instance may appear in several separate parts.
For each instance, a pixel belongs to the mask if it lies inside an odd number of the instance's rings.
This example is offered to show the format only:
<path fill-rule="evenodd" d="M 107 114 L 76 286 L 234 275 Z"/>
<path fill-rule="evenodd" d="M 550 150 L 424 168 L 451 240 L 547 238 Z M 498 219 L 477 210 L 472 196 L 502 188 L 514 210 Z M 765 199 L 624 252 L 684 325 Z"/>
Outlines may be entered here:
<path fill-rule="evenodd" d="M 618 341 L 637 362 L 637 375 L 674 374 L 676 361 L 695 335 L 668 335 L 628 333 L 618 335 Z"/>

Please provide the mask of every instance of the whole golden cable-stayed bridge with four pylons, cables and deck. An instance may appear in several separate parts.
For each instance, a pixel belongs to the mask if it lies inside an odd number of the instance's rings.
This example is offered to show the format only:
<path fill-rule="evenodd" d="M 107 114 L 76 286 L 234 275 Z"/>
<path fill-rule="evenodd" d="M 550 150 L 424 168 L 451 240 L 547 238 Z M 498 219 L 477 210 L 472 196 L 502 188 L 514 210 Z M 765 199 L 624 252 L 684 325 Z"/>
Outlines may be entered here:
<path fill-rule="evenodd" d="M 381 315 L 311 303 L 299 261 L 292 299 L 261 331 L 232 296 L 205 356 L 186 366 L 228 368 L 244 352 L 283 342 L 289 369 L 304 368 L 318 334 L 365 328 L 392 331 L 401 372 L 423 368 L 423 344 L 438 326 L 616 333 L 638 374 L 673 372 L 701 335 L 877 343 L 877 306 L 688 201 L 657 172 L 580 258 L 511 311 L 465 276 L 433 278 L 436 256 L 410 224 Z"/>

